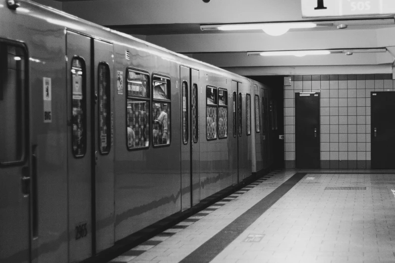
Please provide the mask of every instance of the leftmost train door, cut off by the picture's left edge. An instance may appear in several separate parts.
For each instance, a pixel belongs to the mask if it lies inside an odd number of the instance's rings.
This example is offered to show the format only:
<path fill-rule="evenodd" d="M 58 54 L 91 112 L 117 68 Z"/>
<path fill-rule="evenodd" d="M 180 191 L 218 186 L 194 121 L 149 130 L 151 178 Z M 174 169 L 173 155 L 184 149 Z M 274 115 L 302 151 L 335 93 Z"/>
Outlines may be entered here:
<path fill-rule="evenodd" d="M 30 262 L 28 54 L 0 39 L 0 262 Z M 33 163 L 32 163 L 33 162 Z M 34 178 L 33 178 L 34 180 Z M 34 183 L 34 182 L 33 182 Z"/>

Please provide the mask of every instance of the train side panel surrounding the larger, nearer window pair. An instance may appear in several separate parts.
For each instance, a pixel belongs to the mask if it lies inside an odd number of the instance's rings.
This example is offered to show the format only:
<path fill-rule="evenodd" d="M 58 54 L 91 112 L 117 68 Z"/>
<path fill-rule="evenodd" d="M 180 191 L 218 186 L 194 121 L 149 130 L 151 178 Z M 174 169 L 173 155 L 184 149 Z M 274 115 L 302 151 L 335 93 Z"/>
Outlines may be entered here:
<path fill-rule="evenodd" d="M 145 44 L 115 42 L 115 209 L 116 209 L 116 241 L 124 238 L 148 225 L 170 216 L 181 210 L 181 158 L 180 158 L 180 88 L 176 85 L 179 76 L 178 65 L 172 62 L 172 55 L 160 56 L 157 51 Z M 127 59 L 126 51 L 130 52 Z M 151 52 L 151 53 L 150 53 Z M 164 59 L 167 58 L 167 59 Z M 145 112 L 142 108 L 128 108 L 127 99 L 132 103 L 143 100 L 128 97 L 128 67 L 132 72 L 145 71 L 149 77 L 152 92 L 152 77 L 155 72 L 170 78 L 171 102 L 168 128 L 170 146 L 153 147 L 152 132 L 153 106 L 151 99 Z M 121 92 L 120 81 L 123 82 Z M 150 95 L 149 95 L 150 96 Z M 132 110 L 129 112 L 129 110 Z M 127 116 L 128 112 L 128 116 Z M 133 118 L 135 114 L 136 118 Z M 138 128 L 148 129 L 148 140 L 145 149 L 128 149 L 127 118 L 134 121 Z M 133 120 L 131 120 L 133 118 Z M 144 126 L 144 127 L 142 127 Z M 135 134 L 136 135 L 136 134 Z M 136 140 L 135 138 L 134 140 Z M 147 146 L 147 148 L 145 147 Z"/>

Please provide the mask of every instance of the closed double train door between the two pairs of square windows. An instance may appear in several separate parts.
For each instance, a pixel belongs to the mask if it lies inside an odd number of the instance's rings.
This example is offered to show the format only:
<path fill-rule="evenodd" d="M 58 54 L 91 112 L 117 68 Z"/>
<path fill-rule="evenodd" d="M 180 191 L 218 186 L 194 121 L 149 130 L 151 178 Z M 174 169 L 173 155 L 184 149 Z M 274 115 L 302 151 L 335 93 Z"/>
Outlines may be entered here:
<path fill-rule="evenodd" d="M 180 66 L 181 87 L 181 208 L 200 202 L 199 71 Z"/>

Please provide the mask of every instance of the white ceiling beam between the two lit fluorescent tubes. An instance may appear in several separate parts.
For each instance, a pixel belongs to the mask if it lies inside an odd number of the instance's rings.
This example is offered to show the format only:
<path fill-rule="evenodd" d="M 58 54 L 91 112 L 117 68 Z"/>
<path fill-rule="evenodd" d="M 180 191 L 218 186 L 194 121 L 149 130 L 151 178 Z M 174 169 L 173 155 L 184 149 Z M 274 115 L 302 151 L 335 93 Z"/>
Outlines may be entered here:
<path fill-rule="evenodd" d="M 276 37 L 263 32 L 155 35 L 146 40 L 181 53 L 377 47 L 375 30 L 288 32 Z"/>

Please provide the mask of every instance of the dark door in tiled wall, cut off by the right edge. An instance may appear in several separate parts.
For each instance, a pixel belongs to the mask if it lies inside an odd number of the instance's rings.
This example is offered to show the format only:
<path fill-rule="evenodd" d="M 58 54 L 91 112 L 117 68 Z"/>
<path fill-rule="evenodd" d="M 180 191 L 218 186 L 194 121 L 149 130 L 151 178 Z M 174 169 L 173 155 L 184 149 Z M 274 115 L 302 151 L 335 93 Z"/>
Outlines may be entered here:
<path fill-rule="evenodd" d="M 372 168 L 395 168 L 395 92 L 371 92 Z"/>

